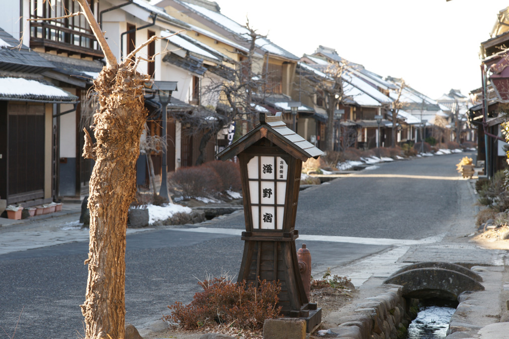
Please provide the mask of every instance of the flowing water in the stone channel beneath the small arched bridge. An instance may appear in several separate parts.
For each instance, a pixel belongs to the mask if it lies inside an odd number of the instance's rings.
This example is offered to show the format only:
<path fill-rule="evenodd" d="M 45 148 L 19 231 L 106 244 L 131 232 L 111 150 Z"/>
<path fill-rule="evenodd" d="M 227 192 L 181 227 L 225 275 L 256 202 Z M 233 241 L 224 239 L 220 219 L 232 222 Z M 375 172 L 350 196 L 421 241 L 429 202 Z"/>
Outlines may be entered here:
<path fill-rule="evenodd" d="M 408 326 L 408 339 L 442 339 L 446 337 L 450 317 L 458 306 L 452 301 L 419 302 L 419 313 Z"/>

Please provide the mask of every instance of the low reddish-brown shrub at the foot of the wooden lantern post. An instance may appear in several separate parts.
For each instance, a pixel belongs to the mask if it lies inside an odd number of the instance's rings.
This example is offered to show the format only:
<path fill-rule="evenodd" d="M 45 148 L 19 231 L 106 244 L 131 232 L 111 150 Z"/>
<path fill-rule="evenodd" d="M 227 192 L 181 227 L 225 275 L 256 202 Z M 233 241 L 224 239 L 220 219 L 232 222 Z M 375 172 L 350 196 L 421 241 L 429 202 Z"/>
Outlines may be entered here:
<path fill-rule="evenodd" d="M 260 330 L 265 319 L 279 318 L 281 307 L 276 306 L 281 291 L 279 281 L 261 280 L 258 288 L 245 280 L 233 283 L 227 277 L 205 280 L 199 285 L 193 300 L 183 305 L 176 302 L 168 306 L 172 311 L 163 320 L 184 329 L 197 329 L 205 325 L 231 325 L 243 329 Z"/>

